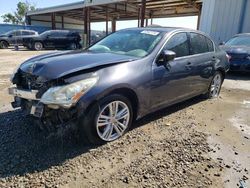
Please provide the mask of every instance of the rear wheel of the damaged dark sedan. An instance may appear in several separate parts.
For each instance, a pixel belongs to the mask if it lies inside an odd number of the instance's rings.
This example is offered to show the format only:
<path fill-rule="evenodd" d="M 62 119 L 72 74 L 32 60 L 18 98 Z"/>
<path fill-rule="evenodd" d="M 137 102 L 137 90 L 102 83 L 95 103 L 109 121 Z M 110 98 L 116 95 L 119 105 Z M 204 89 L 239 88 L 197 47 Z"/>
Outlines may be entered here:
<path fill-rule="evenodd" d="M 221 72 L 216 71 L 205 97 L 208 99 L 217 98 L 220 94 L 222 83 L 223 83 L 223 76 Z"/>

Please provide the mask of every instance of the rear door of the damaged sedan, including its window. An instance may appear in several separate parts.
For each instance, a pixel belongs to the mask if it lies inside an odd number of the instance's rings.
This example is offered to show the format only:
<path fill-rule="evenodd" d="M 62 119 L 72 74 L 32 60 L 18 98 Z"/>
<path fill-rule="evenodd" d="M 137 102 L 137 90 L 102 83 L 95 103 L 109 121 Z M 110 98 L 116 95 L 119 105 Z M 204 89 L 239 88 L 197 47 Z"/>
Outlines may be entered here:
<path fill-rule="evenodd" d="M 190 61 L 193 67 L 191 88 L 196 94 L 205 92 L 210 84 L 216 62 L 213 42 L 206 36 L 190 32 Z"/>

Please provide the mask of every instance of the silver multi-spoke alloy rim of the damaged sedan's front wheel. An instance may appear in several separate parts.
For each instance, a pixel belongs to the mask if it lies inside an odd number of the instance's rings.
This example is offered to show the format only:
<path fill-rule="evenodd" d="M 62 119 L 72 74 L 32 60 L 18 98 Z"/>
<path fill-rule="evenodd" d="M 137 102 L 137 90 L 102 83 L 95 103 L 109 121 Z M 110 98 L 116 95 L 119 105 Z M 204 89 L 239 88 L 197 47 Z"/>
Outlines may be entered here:
<path fill-rule="evenodd" d="M 130 121 L 129 107 L 122 101 L 112 101 L 101 109 L 96 129 L 104 141 L 113 141 L 127 130 Z"/>

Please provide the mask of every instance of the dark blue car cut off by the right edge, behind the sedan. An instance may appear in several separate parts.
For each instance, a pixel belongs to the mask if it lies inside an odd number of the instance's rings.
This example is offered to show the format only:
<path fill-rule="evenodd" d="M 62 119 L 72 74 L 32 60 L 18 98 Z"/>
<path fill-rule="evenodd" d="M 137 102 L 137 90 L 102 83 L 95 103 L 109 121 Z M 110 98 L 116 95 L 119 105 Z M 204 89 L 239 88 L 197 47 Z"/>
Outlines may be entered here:
<path fill-rule="evenodd" d="M 230 71 L 250 72 L 250 33 L 234 36 L 221 48 L 230 56 Z"/>

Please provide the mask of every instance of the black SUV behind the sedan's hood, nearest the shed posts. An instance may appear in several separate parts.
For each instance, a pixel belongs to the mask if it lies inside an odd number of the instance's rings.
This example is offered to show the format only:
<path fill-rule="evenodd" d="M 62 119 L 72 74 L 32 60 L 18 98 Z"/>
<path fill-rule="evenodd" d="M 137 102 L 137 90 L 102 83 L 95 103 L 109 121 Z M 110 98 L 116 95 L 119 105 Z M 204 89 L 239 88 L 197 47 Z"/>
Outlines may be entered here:
<path fill-rule="evenodd" d="M 50 30 L 34 37 L 23 39 L 23 45 L 28 49 L 71 49 L 81 47 L 81 36 L 78 32 L 68 30 Z"/>

